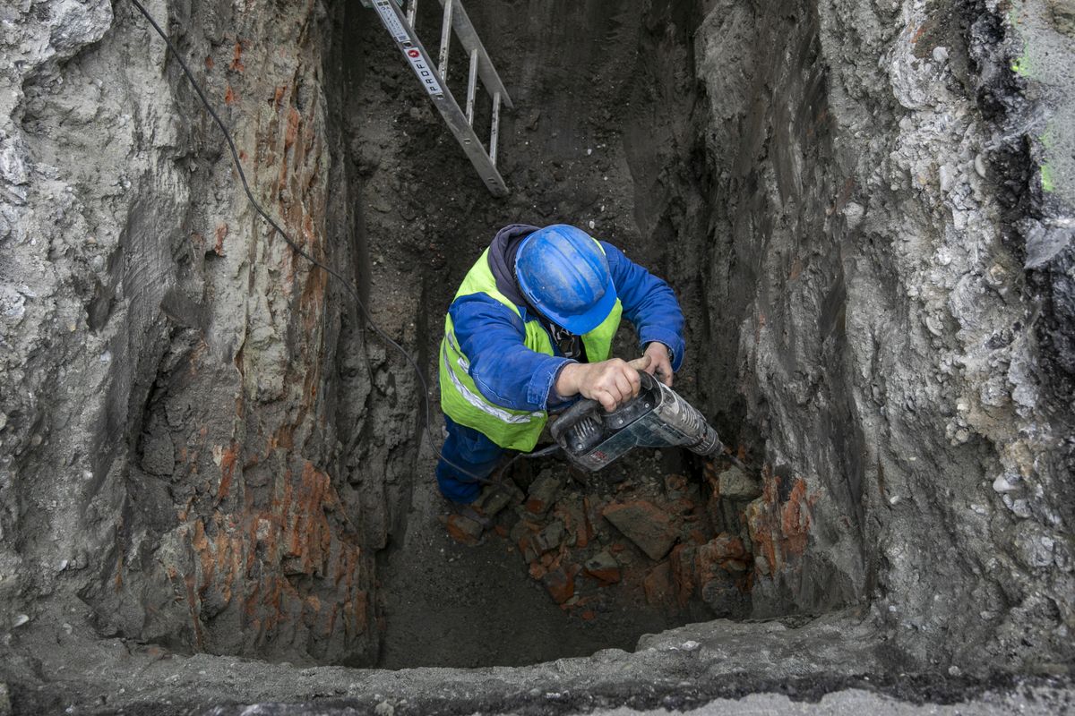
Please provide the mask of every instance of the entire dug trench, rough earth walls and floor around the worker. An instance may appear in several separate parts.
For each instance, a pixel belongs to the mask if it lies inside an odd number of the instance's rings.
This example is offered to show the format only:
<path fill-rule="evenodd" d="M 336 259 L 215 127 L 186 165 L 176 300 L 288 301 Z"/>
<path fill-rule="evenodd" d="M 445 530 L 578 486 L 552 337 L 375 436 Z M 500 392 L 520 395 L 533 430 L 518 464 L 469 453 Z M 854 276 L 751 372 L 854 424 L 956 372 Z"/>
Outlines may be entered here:
<path fill-rule="evenodd" d="M 1048 93 L 1009 70 L 1061 16 L 1016 36 L 958 2 L 473 4 L 515 104 L 504 200 L 359 3 L 150 8 L 257 195 L 428 393 L 249 209 L 130 5 L 4 40 L 15 706 L 687 706 L 863 674 L 950 701 L 1069 674 L 1071 196 L 1035 170 Z M 446 520 L 422 406 L 439 441 L 444 311 L 512 222 L 669 281 L 676 390 L 747 472 L 535 461 L 481 536 Z M 493 666 L 518 668 L 385 671 Z"/>

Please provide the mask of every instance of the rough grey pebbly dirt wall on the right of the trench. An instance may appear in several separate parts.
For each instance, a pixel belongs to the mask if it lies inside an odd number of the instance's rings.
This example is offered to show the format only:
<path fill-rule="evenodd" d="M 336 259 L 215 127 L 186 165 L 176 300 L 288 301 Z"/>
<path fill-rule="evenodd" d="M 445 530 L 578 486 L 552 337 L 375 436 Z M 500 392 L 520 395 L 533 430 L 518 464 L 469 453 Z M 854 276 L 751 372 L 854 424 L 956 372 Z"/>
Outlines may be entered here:
<path fill-rule="evenodd" d="M 1024 266 L 1059 209 L 1035 223 L 1050 111 L 1009 69 L 1041 10 L 708 2 L 705 106 L 655 62 L 704 147 L 635 152 L 640 225 L 701 297 L 700 399 L 769 476 L 757 616 L 869 602 L 919 667 L 1069 654 L 1066 253 Z"/>

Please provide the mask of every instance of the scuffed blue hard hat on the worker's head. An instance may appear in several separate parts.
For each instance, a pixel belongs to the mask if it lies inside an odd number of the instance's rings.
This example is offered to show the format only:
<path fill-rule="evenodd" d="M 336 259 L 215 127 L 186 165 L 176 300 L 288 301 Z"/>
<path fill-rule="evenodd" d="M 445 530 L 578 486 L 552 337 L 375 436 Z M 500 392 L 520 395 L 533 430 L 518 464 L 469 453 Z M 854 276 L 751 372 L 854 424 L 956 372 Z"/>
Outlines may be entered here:
<path fill-rule="evenodd" d="M 575 335 L 601 325 L 616 305 L 604 251 L 568 224 L 539 229 L 522 240 L 515 278 L 542 316 Z"/>

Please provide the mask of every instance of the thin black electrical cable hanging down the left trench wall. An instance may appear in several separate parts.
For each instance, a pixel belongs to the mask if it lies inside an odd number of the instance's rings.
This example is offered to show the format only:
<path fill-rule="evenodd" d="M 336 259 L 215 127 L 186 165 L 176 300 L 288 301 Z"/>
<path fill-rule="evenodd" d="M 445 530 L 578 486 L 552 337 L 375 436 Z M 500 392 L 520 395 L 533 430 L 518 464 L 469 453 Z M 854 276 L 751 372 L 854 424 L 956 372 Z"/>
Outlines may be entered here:
<path fill-rule="evenodd" d="M 366 317 L 366 321 L 367 323 L 370 324 L 370 327 L 373 328 L 373 332 L 376 333 L 378 336 L 381 336 L 381 338 L 389 346 L 391 346 L 400 353 L 402 353 L 403 357 L 405 357 L 407 360 L 407 363 L 411 364 L 411 367 L 414 369 L 414 375 L 418 377 L 418 382 L 421 384 L 421 404 L 426 409 L 425 427 L 426 427 L 426 437 L 429 439 L 429 447 L 433 449 L 433 452 L 436 453 L 436 456 L 440 459 L 444 461 L 445 463 L 447 463 L 455 469 L 459 470 L 467 477 L 471 478 L 475 482 L 481 482 L 483 484 L 488 484 L 488 485 L 496 485 L 497 483 L 494 481 L 489 480 L 487 478 L 479 478 L 473 472 L 459 467 L 458 465 L 456 465 L 455 463 L 447 459 L 446 457 L 444 457 L 444 455 L 441 454 L 441 451 L 436 448 L 436 443 L 433 440 L 433 432 L 430 426 L 429 384 L 426 382 L 426 376 L 422 375 L 421 368 L 418 367 L 418 364 L 415 362 L 414 357 L 412 357 L 411 354 L 406 351 L 406 349 L 404 349 L 402 346 L 396 342 L 391 338 L 391 336 L 382 331 L 381 327 L 377 326 L 377 324 L 373 321 L 373 317 L 370 316 L 370 311 L 367 310 L 366 304 L 362 302 L 362 297 L 358 293 L 358 289 L 352 286 L 350 281 L 343 274 L 335 271 L 334 268 L 327 266 L 326 264 L 324 264 L 322 262 L 318 261 L 310 253 L 307 253 L 305 249 L 303 249 L 301 246 L 295 243 L 290 236 L 288 236 L 287 232 L 284 231 L 284 229 L 281 228 L 278 223 L 276 223 L 275 219 L 269 216 L 266 213 L 266 210 L 261 208 L 261 204 L 259 204 L 258 201 L 254 199 L 254 192 L 250 191 L 250 187 L 246 182 L 246 174 L 243 173 L 243 164 L 242 162 L 239 161 L 239 150 L 235 149 L 235 143 L 231 138 L 231 132 L 228 131 L 228 128 L 225 127 L 224 121 L 220 119 L 219 115 L 217 115 L 216 111 L 213 109 L 213 105 L 210 104 L 209 99 L 205 97 L 205 92 L 202 91 L 201 85 L 199 85 L 198 81 L 195 79 L 194 73 L 190 72 L 190 68 L 187 67 L 187 63 L 183 60 L 183 56 L 180 55 L 180 50 L 176 49 L 174 44 L 172 44 L 172 41 L 168 38 L 167 34 L 164 34 L 164 31 L 160 28 L 160 26 L 157 25 L 157 21 L 153 19 L 153 16 L 150 16 L 149 13 L 146 11 L 146 9 L 142 6 L 142 3 L 139 2 L 139 0 L 130 0 L 130 1 L 131 4 L 133 4 L 140 13 L 142 13 L 142 16 L 145 17 L 146 20 L 148 20 L 149 25 L 153 26 L 153 29 L 156 30 L 157 34 L 159 34 L 161 40 L 164 41 L 164 44 L 168 45 L 168 48 L 171 50 L 172 56 L 175 57 L 175 61 L 180 63 L 181 68 L 183 68 L 183 73 L 187 76 L 187 79 L 190 81 L 190 85 L 195 88 L 195 92 L 198 93 L 198 99 L 201 100 L 201 103 L 205 107 L 206 112 L 209 112 L 210 116 L 213 117 L 213 121 L 216 122 L 216 126 L 220 128 L 220 132 L 224 133 L 224 138 L 228 143 L 228 149 L 231 150 L 231 161 L 235 165 L 235 171 L 239 173 L 239 179 L 243 182 L 243 191 L 246 192 L 246 199 L 249 200 L 250 204 L 254 206 L 254 210 L 256 210 L 261 216 L 262 219 L 269 222 L 270 227 L 275 229 L 280 233 L 280 235 L 284 237 L 284 240 L 287 242 L 287 245 L 290 246 L 296 253 L 298 253 L 300 257 L 302 257 L 310 263 L 314 264 L 315 266 L 322 268 L 330 276 L 339 280 L 340 283 L 342 283 L 343 287 L 347 289 L 347 292 L 355 299 L 355 303 L 358 304 L 359 309 L 362 311 L 362 316 Z M 520 453 L 520 455 L 522 453 Z M 534 456 L 536 457 L 538 455 Z M 512 461 L 508 463 L 508 466 L 512 463 L 514 463 L 518 455 L 512 458 Z M 503 474 L 503 470 L 501 470 L 501 474 Z"/>

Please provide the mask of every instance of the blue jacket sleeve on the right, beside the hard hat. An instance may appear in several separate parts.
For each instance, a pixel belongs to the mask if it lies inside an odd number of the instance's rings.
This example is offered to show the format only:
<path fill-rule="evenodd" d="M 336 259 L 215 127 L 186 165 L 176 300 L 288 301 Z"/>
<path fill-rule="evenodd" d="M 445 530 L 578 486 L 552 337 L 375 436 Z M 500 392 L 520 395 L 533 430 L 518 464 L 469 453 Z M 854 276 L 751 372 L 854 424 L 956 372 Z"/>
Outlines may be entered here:
<path fill-rule="evenodd" d="M 672 369 L 683 365 L 683 311 L 668 283 L 628 259 L 612 244 L 601 242 L 612 282 L 624 304 L 624 316 L 639 334 L 642 347 L 651 341 L 672 349 Z"/>

